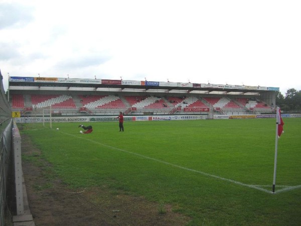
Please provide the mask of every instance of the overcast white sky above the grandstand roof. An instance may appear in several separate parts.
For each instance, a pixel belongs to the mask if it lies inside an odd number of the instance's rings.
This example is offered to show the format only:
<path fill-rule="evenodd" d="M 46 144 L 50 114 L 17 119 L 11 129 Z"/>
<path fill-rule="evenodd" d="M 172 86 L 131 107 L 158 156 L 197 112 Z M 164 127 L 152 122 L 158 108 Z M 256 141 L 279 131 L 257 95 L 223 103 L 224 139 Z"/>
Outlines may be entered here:
<path fill-rule="evenodd" d="M 301 1 L 4 1 L 0 69 L 301 90 Z"/>

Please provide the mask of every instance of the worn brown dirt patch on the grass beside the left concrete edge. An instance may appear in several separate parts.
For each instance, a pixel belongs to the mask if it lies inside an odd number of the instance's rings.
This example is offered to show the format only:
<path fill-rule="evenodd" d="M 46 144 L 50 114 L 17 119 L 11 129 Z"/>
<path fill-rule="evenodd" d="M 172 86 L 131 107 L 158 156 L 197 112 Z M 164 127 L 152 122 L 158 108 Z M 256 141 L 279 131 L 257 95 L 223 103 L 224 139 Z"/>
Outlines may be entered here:
<path fill-rule="evenodd" d="M 22 136 L 23 173 L 35 224 L 39 225 L 185 225 L 189 218 L 172 206 L 143 197 L 112 193 L 106 187 L 68 189 Z"/>

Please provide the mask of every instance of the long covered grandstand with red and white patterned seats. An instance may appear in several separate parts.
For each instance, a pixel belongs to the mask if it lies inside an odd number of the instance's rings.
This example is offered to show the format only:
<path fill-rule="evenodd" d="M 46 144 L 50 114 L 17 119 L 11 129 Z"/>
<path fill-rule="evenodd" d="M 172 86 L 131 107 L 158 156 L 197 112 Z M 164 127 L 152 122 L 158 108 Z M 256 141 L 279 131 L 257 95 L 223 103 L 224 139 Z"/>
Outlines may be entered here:
<path fill-rule="evenodd" d="M 279 88 L 203 83 L 10 77 L 10 102 L 22 117 L 266 114 Z"/>

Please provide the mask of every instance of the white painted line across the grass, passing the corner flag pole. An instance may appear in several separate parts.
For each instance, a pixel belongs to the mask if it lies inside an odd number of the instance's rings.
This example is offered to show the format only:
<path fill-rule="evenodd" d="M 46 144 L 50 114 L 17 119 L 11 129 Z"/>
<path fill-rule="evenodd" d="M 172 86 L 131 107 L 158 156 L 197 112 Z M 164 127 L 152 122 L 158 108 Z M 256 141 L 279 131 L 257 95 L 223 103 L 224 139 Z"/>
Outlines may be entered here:
<path fill-rule="evenodd" d="M 64 133 L 64 132 L 62 132 L 62 133 Z M 188 171 L 191 171 L 191 172 L 199 173 L 199 174 L 202 174 L 202 175 L 205 175 L 205 176 L 209 176 L 209 177 L 217 178 L 217 179 L 220 179 L 220 180 L 228 181 L 230 183 L 238 184 L 238 185 L 241 185 L 241 186 L 254 188 L 254 189 L 257 189 L 257 190 L 260 190 L 260 191 L 264 191 L 266 193 L 272 193 L 271 190 L 264 189 L 264 188 L 261 187 L 261 185 L 245 184 L 245 183 L 242 183 L 242 182 L 239 182 L 239 181 L 235 181 L 235 180 L 227 179 L 227 178 L 224 178 L 224 177 L 219 177 L 219 176 L 216 176 L 216 175 L 213 175 L 213 174 L 205 173 L 205 172 L 202 172 L 202 171 L 198 171 L 198 170 L 186 168 L 186 167 L 183 167 L 183 166 L 175 165 L 175 164 L 172 164 L 172 163 L 169 163 L 169 162 L 166 162 L 166 161 L 162 161 L 162 160 L 159 160 L 159 159 L 151 158 L 151 157 L 148 157 L 148 156 L 145 156 L 145 155 L 140 155 L 140 154 L 137 154 L 137 153 L 134 153 L 134 152 L 125 151 L 123 149 L 115 148 L 115 147 L 112 147 L 112 146 L 109 146 L 109 145 L 106 145 L 106 144 L 102 144 L 102 143 L 99 143 L 97 141 L 92 141 L 92 140 L 89 140 L 89 139 L 86 139 L 86 138 L 83 138 L 83 137 L 75 136 L 75 135 L 68 134 L 68 133 L 64 133 L 64 134 L 67 134 L 67 135 L 70 135 L 70 136 L 73 136 L 73 137 L 77 137 L 77 138 L 81 138 L 83 140 L 87 140 L 87 141 L 93 142 L 95 144 L 102 145 L 102 146 L 110 148 L 110 149 L 115 149 L 117 151 L 125 152 L 125 153 L 132 154 L 132 155 L 136 155 L 136 156 L 142 157 L 144 159 L 153 160 L 153 161 L 160 162 L 160 163 L 163 163 L 163 164 L 166 164 L 166 165 L 170 165 L 170 166 L 173 166 L 173 167 L 176 167 L 176 168 L 180 168 L 180 169 L 188 170 Z M 265 186 L 265 185 L 263 185 L 263 186 Z M 272 185 L 269 185 L 269 186 L 272 187 Z M 292 189 L 297 189 L 297 188 L 301 188 L 301 185 L 289 186 L 287 188 L 277 190 L 276 193 L 282 192 L 282 191 L 287 191 L 287 190 L 292 190 Z"/>

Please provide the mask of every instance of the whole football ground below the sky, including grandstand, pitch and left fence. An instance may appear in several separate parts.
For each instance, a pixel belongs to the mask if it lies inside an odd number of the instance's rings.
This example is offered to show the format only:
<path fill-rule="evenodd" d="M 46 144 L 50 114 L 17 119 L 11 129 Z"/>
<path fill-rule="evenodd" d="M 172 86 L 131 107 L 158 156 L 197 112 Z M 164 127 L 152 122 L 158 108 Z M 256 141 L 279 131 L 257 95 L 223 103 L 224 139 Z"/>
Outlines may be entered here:
<path fill-rule="evenodd" d="M 278 87 L 10 77 L 1 91 L 3 224 L 6 209 L 16 225 L 301 222 L 301 115 L 277 111 Z"/>

